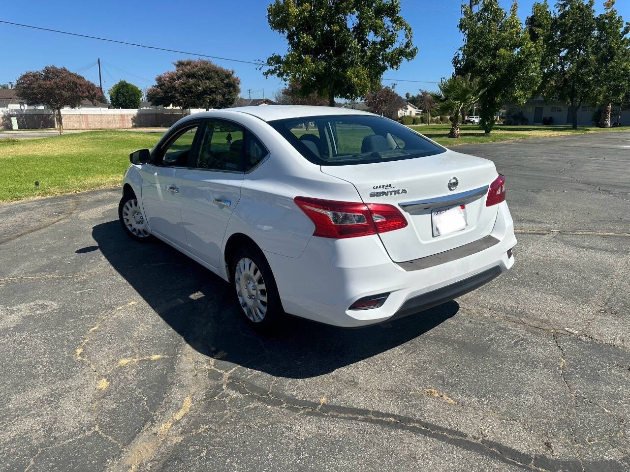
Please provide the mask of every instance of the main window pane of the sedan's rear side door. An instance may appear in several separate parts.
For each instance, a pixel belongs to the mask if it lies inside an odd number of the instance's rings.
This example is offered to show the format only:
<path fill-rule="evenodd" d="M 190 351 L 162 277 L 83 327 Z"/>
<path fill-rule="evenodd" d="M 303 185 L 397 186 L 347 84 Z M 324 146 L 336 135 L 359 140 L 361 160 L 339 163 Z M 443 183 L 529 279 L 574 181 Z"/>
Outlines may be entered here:
<path fill-rule="evenodd" d="M 209 121 L 203 128 L 195 167 L 242 171 L 243 146 L 243 128 L 229 121 Z"/>

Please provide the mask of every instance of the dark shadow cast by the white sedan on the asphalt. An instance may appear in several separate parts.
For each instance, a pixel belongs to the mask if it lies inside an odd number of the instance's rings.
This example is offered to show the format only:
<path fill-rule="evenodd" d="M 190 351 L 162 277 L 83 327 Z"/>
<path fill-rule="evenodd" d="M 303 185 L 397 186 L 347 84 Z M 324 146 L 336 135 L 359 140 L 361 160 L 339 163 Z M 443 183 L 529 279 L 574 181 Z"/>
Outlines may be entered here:
<path fill-rule="evenodd" d="M 273 334 L 249 327 L 232 286 L 162 242 L 134 242 L 120 223 L 93 227 L 112 267 L 196 351 L 285 378 L 309 378 L 415 339 L 452 317 L 455 301 L 381 325 L 343 329 L 287 317 Z"/>

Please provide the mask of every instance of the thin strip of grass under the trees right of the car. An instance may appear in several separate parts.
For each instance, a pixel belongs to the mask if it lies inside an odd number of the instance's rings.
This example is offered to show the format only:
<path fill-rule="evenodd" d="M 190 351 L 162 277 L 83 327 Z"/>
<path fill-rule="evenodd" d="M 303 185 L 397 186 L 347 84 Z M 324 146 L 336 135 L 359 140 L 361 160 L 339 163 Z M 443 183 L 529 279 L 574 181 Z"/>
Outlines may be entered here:
<path fill-rule="evenodd" d="M 630 126 L 619 128 L 595 128 L 594 126 L 581 126 L 577 130 L 571 126 L 507 126 L 496 125 L 489 135 L 477 125 L 461 125 L 461 138 L 449 138 L 450 125 L 416 125 L 411 129 L 422 133 L 433 141 L 443 146 L 457 146 L 461 144 L 493 143 L 523 138 L 546 138 L 571 134 L 587 134 L 612 131 L 628 131 Z"/>

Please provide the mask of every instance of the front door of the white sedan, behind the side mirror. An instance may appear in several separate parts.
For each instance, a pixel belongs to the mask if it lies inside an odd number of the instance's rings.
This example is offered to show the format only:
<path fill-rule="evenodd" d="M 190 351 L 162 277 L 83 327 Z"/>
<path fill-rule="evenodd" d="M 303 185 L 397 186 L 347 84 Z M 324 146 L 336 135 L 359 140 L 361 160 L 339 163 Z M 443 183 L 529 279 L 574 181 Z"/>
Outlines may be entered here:
<path fill-rule="evenodd" d="M 153 163 L 146 166 L 142 182 L 142 207 L 151 232 L 186 248 L 186 233 L 181 223 L 181 176 L 188 165 L 198 123 L 174 133 L 164 148 L 154 152 Z"/>

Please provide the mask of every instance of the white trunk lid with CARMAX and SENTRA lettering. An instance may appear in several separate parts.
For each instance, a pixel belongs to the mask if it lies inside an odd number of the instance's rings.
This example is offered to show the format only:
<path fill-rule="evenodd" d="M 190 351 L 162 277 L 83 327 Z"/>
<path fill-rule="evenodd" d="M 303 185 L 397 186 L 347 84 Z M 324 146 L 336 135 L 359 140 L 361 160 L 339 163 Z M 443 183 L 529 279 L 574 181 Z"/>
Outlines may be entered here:
<path fill-rule="evenodd" d="M 387 203 L 401 210 L 408 226 L 379 234 L 394 262 L 468 244 L 490 234 L 495 225 L 497 206 L 486 206 L 487 186 L 497 176 L 491 160 L 447 150 L 417 159 L 321 166 L 321 171 L 352 183 L 364 203 Z M 451 191 L 452 177 L 458 184 Z M 434 236 L 432 211 L 460 203 L 465 205 L 466 227 Z"/>

